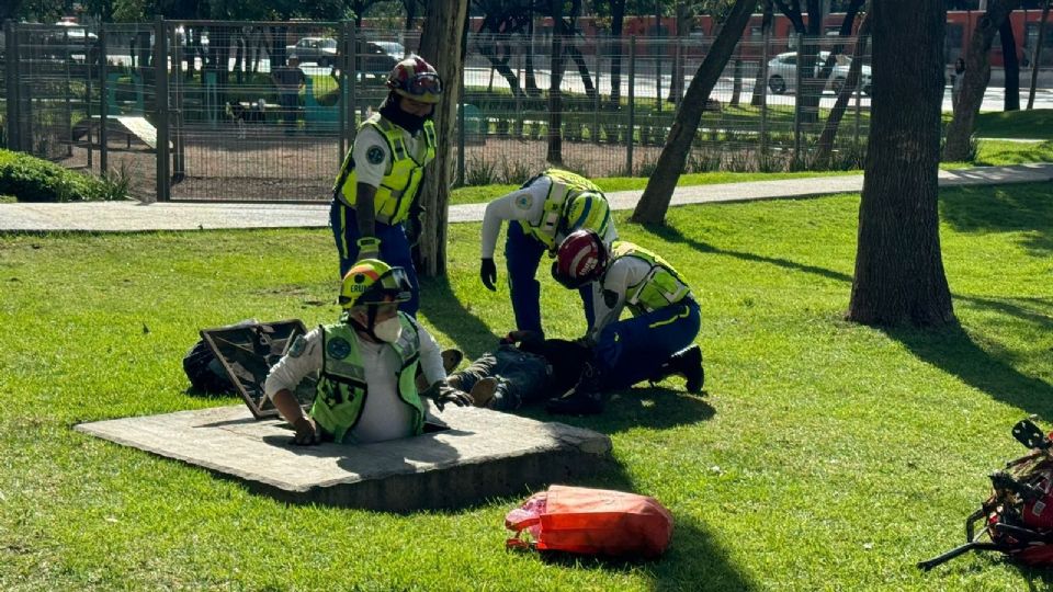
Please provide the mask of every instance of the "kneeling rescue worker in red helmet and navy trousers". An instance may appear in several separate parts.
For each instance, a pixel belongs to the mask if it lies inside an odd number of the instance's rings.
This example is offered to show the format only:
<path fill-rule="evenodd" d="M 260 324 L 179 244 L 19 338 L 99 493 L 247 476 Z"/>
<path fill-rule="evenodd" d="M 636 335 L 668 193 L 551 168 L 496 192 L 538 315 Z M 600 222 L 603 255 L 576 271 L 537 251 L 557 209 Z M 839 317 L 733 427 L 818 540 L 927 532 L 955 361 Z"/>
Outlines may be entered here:
<path fill-rule="evenodd" d="M 552 413 L 599 413 L 601 391 L 653 383 L 679 374 L 700 392 L 705 380 L 699 334 L 699 305 L 683 276 L 657 254 L 626 241 L 608 248 L 591 230 L 570 234 L 559 244 L 552 275 L 568 288 L 595 283 L 596 325 L 586 335 L 592 360 L 578 384 L 551 399 Z M 619 320 L 629 308 L 633 318 Z"/>

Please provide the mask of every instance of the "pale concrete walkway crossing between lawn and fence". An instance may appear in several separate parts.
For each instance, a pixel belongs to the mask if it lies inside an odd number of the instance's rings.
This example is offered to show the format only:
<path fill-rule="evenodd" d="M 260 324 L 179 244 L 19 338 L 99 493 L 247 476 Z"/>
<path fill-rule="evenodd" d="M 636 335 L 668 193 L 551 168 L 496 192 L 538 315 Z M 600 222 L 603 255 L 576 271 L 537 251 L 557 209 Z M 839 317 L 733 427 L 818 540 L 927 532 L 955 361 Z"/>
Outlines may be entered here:
<path fill-rule="evenodd" d="M 1053 180 L 1053 163 L 940 171 L 940 186 L 1034 183 Z M 859 193 L 863 175 L 813 177 L 677 187 L 672 205 Z M 643 191 L 608 194 L 615 209 L 632 209 Z M 495 195 L 495 197 L 497 197 Z M 486 204 L 450 207 L 450 221 L 479 221 Z M 216 228 L 325 228 L 328 204 L 89 202 L 0 204 L 0 231 L 134 232 Z"/>

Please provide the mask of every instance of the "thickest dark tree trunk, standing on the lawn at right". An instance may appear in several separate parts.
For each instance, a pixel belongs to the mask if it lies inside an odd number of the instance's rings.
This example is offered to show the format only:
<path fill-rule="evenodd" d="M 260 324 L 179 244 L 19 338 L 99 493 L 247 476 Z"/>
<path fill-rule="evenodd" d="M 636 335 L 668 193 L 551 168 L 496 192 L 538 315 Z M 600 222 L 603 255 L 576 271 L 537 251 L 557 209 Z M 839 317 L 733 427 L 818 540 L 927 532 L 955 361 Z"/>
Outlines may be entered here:
<path fill-rule="evenodd" d="M 954 322 L 940 255 L 937 172 L 943 100 L 943 0 L 880 0 L 874 93 L 848 318 Z"/>

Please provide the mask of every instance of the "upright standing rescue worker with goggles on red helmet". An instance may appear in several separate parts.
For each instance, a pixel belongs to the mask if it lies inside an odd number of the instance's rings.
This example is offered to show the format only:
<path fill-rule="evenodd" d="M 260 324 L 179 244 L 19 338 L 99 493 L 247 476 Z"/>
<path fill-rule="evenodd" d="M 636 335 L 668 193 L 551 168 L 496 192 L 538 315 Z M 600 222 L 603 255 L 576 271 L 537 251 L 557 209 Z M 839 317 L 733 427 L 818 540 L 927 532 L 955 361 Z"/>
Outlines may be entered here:
<path fill-rule="evenodd" d="M 381 259 L 406 270 L 410 298 L 399 306 L 409 315 L 419 307 L 409 234 L 419 237 L 418 190 L 424 167 L 435 158 L 431 116 L 442 95 L 442 80 L 419 56 L 399 61 L 387 75 L 387 98 L 359 126 L 332 190 L 329 225 L 343 277 L 359 259 Z"/>

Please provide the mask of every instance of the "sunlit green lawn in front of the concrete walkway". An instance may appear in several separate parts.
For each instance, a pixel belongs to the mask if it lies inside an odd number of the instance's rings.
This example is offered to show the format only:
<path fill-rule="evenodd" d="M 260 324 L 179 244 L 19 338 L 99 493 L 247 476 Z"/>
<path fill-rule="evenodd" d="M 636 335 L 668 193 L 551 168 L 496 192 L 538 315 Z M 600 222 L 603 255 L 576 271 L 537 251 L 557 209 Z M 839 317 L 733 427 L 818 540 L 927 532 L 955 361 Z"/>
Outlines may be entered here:
<path fill-rule="evenodd" d="M 670 380 L 599 418 L 616 465 L 578 485 L 657 497 L 669 553 L 545 562 L 503 550 L 523 496 L 388 515 L 290 506 L 204 470 L 91 439 L 83 421 L 231 405 L 184 392 L 196 330 L 336 318 L 328 230 L 0 236 L 0 589 L 1007 590 L 1053 584 L 995 556 L 914 568 L 962 542 L 986 475 L 1053 426 L 1053 202 L 1048 184 L 941 194 L 961 328 L 842 320 L 857 195 L 679 207 L 623 237 L 691 278 L 706 395 Z M 421 319 L 469 356 L 510 328 L 477 278 L 477 224 L 450 230 Z M 503 276 L 503 267 L 499 263 Z M 553 334 L 575 297 L 543 285 Z M 537 410 L 529 411 L 543 417 Z"/>

